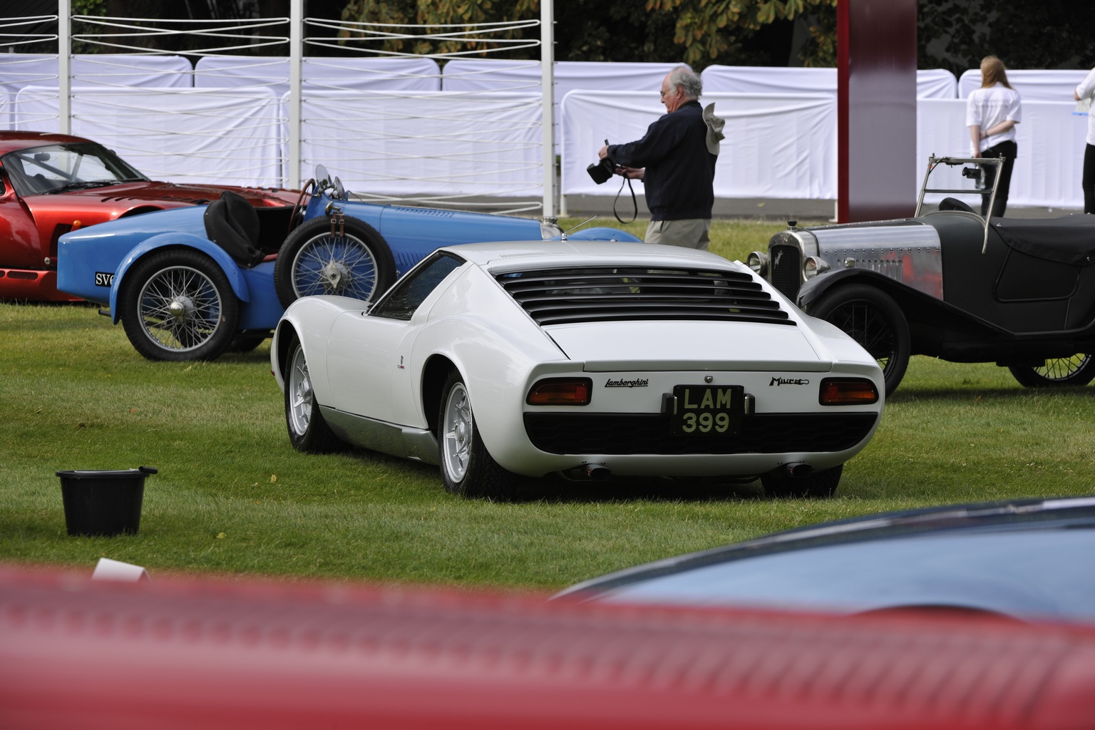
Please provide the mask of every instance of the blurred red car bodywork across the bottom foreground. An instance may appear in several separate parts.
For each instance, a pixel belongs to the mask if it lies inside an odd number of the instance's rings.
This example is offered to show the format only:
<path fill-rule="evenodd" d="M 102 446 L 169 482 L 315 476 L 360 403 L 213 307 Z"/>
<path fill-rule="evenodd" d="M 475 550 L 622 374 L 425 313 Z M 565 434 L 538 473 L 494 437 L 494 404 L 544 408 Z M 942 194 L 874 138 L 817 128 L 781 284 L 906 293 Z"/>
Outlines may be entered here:
<path fill-rule="evenodd" d="M 7 730 L 1001 730 L 1092 718 L 1092 627 L 0 568 Z"/>

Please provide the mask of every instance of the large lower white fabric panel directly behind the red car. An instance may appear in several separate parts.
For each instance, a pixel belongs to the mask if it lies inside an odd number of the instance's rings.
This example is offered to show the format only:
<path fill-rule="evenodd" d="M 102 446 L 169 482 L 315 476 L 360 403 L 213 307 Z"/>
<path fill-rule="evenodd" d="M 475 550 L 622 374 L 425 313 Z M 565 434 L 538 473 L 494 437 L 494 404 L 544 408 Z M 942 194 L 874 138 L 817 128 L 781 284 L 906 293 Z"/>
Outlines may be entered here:
<path fill-rule="evenodd" d="M 281 105 L 268 89 L 72 92 L 72 134 L 113 149 L 152 179 L 257 186 L 279 181 Z M 16 103 L 38 119 L 20 129 L 59 129 L 56 88 L 24 86 Z"/>

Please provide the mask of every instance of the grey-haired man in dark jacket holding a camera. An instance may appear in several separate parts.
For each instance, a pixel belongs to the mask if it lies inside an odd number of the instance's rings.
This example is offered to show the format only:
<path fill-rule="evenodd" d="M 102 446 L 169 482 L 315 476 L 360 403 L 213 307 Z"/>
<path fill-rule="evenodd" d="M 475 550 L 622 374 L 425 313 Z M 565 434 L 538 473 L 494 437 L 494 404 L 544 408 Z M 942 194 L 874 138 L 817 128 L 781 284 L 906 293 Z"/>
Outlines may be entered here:
<path fill-rule="evenodd" d="M 599 152 L 618 174 L 643 181 L 650 209 L 647 243 L 707 247 L 723 120 L 715 116 L 714 104 L 700 106 L 702 91 L 700 77 L 688 66 L 678 66 L 661 81 L 667 114 L 647 128 L 643 139 L 607 144 Z"/>

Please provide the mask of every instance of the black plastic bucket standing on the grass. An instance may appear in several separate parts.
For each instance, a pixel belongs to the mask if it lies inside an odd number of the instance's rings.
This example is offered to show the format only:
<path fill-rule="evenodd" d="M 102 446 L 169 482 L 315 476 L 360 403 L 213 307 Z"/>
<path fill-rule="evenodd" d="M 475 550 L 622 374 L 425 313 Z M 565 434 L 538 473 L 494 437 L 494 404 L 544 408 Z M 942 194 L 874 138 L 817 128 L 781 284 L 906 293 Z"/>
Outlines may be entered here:
<path fill-rule="evenodd" d="M 152 466 L 117 472 L 57 472 L 70 535 L 136 535 Z"/>

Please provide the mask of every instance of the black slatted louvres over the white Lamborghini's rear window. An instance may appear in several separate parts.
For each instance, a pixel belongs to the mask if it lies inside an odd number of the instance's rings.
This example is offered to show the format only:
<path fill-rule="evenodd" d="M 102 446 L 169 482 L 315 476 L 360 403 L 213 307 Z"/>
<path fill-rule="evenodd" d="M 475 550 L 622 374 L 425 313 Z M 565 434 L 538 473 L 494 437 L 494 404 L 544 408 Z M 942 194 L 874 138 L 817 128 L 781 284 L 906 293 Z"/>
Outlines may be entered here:
<path fill-rule="evenodd" d="M 497 279 L 541 325 L 627 320 L 795 324 L 751 275 L 739 271 L 590 267 Z"/>

